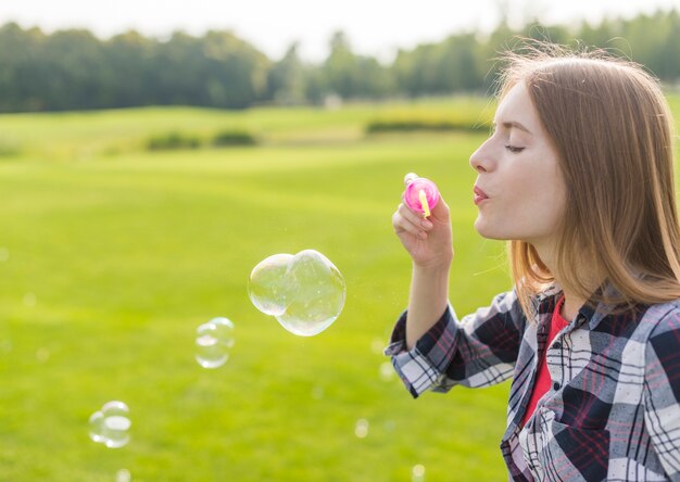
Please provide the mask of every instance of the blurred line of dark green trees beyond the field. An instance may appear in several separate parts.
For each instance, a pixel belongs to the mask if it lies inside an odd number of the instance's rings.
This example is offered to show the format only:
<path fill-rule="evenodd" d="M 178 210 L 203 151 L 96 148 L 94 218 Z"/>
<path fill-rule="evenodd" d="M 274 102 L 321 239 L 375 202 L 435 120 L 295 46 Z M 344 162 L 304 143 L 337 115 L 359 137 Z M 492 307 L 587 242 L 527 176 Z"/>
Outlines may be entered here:
<path fill-rule="evenodd" d="M 168 39 L 127 31 L 100 39 L 85 29 L 46 34 L 15 23 L 0 27 L 0 112 L 92 110 L 139 105 L 244 109 L 256 104 L 341 99 L 489 93 L 499 51 L 517 37 L 601 47 L 643 64 L 662 81 L 680 83 L 680 15 L 676 10 L 608 18 L 599 25 L 463 33 L 400 50 L 391 63 L 357 54 L 341 31 L 318 63 L 292 45 L 268 59 L 231 31 Z"/>

